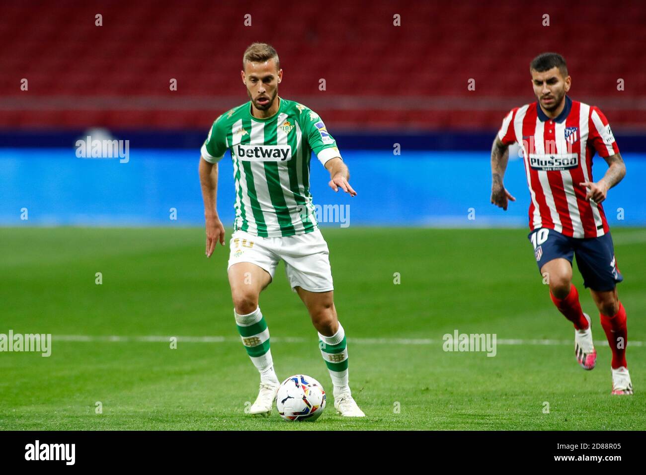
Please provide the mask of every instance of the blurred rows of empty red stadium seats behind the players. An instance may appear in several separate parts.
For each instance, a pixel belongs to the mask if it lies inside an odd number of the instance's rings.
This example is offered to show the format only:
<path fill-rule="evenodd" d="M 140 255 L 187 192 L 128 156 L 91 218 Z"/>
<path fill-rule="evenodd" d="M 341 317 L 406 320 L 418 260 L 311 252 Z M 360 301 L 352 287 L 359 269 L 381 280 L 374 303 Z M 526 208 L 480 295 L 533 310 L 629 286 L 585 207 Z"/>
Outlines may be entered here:
<path fill-rule="evenodd" d="M 531 101 L 528 64 L 544 50 L 567 58 L 572 97 L 605 103 L 615 125 L 646 126 L 643 112 L 620 103 L 643 102 L 646 94 L 646 8 L 638 1 L 612 10 L 585 0 L 553 4 L 546 10 L 550 26 L 542 24 L 543 5 L 506 0 L 375 0 L 369 7 L 329 0 L 290 5 L 279 17 L 275 4 L 251 1 L 114 0 L 100 8 L 103 26 L 94 25 L 96 6 L 80 0 L 38 8 L 33 15 L 20 3 L 0 6 L 0 93 L 16 104 L 0 127 L 72 127 L 86 119 L 108 127 L 204 127 L 200 121 L 208 123 L 219 111 L 81 112 L 65 98 L 199 102 L 218 96 L 241 103 L 241 57 L 252 41 L 272 43 L 280 53 L 287 97 L 329 98 L 329 109 L 321 100 L 318 112 L 348 127 L 495 128 L 505 107 L 453 110 L 451 98 L 494 105 L 501 98 Z M 244 25 L 245 14 L 252 26 Z M 395 14 L 401 26 L 393 25 Z M 28 92 L 19 89 L 22 78 L 28 78 Z M 171 78 L 178 79 L 175 92 L 169 91 Z M 326 91 L 318 90 L 321 78 Z M 623 91 L 616 89 L 619 78 Z M 468 90 L 468 79 L 475 79 L 475 91 Z M 332 99 L 346 96 L 363 98 L 357 110 L 333 108 Z M 61 101 L 54 111 L 38 111 L 28 104 L 34 97 Z M 361 104 L 370 97 L 384 104 L 412 98 L 413 105 L 415 98 L 435 98 L 436 108 L 447 105 L 441 113 L 390 106 L 366 113 Z"/>

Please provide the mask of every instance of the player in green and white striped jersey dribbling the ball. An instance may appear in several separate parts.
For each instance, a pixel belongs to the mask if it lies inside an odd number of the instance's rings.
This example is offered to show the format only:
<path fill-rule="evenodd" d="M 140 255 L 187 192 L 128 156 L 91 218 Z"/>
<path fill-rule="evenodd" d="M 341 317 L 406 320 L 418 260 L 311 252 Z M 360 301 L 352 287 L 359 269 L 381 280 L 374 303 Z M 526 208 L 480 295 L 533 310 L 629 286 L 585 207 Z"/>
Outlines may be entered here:
<path fill-rule="evenodd" d="M 363 417 L 348 385 L 346 335 L 334 306 L 328 244 L 309 193 L 309 162 L 315 153 L 330 173 L 329 186 L 350 196 L 337 143 L 318 114 L 278 96 L 282 69 L 276 50 L 253 43 L 243 56 L 242 82 L 250 101 L 216 119 L 202 145 L 200 183 L 206 220 L 206 255 L 224 246 L 224 226 L 216 211 L 218 161 L 231 152 L 235 182 L 229 284 L 242 344 L 260 372 L 260 391 L 251 414 L 271 414 L 280 386 L 269 346 L 269 329 L 258 299 L 280 260 L 287 279 L 304 302 L 318 331 L 318 346 L 333 383 L 339 414 Z"/>

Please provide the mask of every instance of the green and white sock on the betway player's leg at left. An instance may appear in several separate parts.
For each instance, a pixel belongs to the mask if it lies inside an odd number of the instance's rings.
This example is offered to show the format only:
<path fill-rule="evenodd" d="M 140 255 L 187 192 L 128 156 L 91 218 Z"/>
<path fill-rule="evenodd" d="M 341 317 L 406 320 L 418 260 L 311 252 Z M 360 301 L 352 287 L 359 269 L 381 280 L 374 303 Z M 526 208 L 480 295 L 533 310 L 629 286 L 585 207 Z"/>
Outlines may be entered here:
<path fill-rule="evenodd" d="M 238 333 L 242 338 L 247 354 L 260 372 L 260 381 L 279 383 L 274 372 L 274 363 L 269 349 L 269 328 L 265 322 L 260 306 L 247 315 L 240 315 L 233 310 Z"/>

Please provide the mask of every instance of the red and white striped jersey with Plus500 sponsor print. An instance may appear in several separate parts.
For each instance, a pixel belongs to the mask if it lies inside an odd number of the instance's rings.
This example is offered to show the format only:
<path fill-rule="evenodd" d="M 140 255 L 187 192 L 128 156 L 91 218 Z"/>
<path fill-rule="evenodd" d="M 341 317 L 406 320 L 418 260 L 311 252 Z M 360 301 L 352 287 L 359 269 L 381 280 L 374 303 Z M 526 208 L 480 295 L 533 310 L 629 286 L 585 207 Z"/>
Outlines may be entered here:
<path fill-rule="evenodd" d="M 498 138 L 523 149 L 532 204 L 530 229 L 547 227 L 574 238 L 599 237 L 610 228 L 601 204 L 585 200 L 579 185 L 592 180 L 592 157 L 619 153 L 610 125 L 597 107 L 572 101 L 550 119 L 538 103 L 507 114 Z"/>

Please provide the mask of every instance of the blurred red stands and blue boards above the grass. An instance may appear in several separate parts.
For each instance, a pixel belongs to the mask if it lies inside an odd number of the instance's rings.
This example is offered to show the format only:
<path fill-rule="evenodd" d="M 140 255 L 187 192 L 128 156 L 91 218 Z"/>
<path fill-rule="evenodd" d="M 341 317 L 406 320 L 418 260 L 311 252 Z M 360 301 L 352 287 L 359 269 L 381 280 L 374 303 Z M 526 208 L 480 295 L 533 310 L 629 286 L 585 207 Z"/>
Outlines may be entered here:
<path fill-rule="evenodd" d="M 547 50 L 565 56 L 570 96 L 601 107 L 627 162 L 628 176 L 607 202 L 611 224 L 646 224 L 636 206 L 643 204 L 637 178 L 646 176 L 639 1 L 374 1 L 367 8 L 337 0 L 63 0 L 5 1 L 0 9 L 6 226 L 202 224 L 198 150 L 214 118 L 247 100 L 240 58 L 253 41 L 278 50 L 280 94 L 317 111 L 337 138 L 360 192 L 351 224 L 525 226 L 521 162 L 506 178 L 519 202 L 503 214 L 488 202 L 488 150 L 506 112 L 533 100 L 528 63 Z M 96 14 L 103 26 L 95 26 Z M 393 26 L 394 14 L 401 26 Z M 89 132 L 129 140 L 130 162 L 76 158 L 74 143 Z M 395 143 L 401 155 L 393 155 Z M 219 207 L 229 223 L 229 160 L 221 167 Z M 342 202 L 327 189 L 326 172 L 312 168 L 315 202 Z M 597 179 L 604 169 L 596 160 Z M 169 220 L 171 207 L 177 220 Z M 625 209 L 619 222 L 616 207 Z"/>

